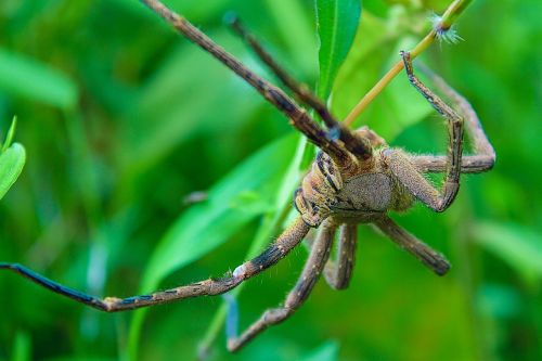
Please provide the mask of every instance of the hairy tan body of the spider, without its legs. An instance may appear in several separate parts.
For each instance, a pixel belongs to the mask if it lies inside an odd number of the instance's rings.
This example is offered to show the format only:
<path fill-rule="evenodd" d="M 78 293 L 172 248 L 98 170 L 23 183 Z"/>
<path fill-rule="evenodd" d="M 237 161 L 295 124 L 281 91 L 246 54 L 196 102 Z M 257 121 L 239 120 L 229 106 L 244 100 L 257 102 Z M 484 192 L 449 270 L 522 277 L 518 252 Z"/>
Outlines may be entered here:
<path fill-rule="evenodd" d="M 370 223 L 388 211 L 403 211 L 414 197 L 386 165 L 383 152 L 374 154 L 356 170 L 341 171 L 320 152 L 295 194 L 304 221 L 318 228 L 326 218 L 335 223 Z"/>

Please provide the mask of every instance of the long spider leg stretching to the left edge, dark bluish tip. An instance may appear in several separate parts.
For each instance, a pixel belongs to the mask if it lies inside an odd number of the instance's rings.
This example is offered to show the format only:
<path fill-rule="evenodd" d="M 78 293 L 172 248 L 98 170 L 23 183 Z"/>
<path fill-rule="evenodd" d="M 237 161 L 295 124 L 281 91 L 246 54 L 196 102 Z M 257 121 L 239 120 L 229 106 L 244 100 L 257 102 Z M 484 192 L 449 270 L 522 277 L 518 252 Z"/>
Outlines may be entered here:
<path fill-rule="evenodd" d="M 21 274 L 24 278 L 55 292 L 62 296 L 72 298 L 78 302 L 93 307 L 105 312 L 116 312 L 132 310 L 141 307 L 154 306 L 165 304 L 178 299 L 198 297 L 198 296 L 212 296 L 223 294 L 243 281 L 260 273 L 264 269 L 273 266 L 282 258 L 284 258 L 296 245 L 298 245 L 305 235 L 309 232 L 307 225 L 299 217 L 296 221 L 285 230 L 276 241 L 271 244 L 256 258 L 246 261 L 237 267 L 232 275 L 222 279 L 208 279 L 195 282 L 185 286 L 179 286 L 171 289 L 155 292 L 149 295 L 140 295 L 128 298 L 106 297 L 101 299 L 91 295 L 87 295 L 70 287 L 61 285 L 51 281 L 28 268 L 17 263 L 0 262 L 0 270 L 11 270 Z"/>

